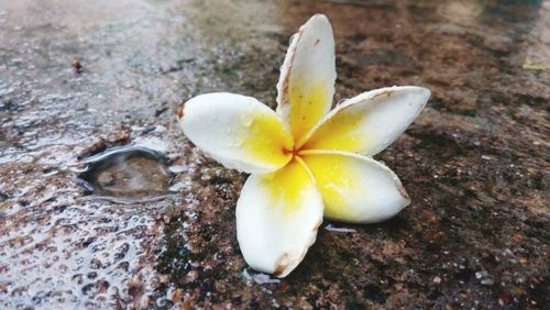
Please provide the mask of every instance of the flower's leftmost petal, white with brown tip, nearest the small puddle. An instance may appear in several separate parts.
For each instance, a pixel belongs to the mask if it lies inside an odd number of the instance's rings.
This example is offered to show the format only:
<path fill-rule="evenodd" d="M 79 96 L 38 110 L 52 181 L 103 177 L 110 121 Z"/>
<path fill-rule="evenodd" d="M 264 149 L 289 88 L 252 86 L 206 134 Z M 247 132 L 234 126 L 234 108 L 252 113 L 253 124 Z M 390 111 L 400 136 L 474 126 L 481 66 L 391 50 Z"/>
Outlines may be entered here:
<path fill-rule="evenodd" d="M 293 139 L 277 114 L 252 97 L 197 96 L 178 112 L 187 137 L 228 168 L 271 173 L 292 158 Z"/>

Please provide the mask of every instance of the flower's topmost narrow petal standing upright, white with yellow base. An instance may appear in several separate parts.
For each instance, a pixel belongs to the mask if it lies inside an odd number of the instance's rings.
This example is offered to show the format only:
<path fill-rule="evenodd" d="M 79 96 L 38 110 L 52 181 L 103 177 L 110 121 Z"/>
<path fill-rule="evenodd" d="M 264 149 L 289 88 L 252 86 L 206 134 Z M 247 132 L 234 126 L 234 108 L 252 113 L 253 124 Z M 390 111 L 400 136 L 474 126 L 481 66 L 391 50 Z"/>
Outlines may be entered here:
<path fill-rule="evenodd" d="M 277 113 L 296 141 L 330 110 L 336 78 L 332 27 L 317 14 L 293 35 L 277 84 Z"/>

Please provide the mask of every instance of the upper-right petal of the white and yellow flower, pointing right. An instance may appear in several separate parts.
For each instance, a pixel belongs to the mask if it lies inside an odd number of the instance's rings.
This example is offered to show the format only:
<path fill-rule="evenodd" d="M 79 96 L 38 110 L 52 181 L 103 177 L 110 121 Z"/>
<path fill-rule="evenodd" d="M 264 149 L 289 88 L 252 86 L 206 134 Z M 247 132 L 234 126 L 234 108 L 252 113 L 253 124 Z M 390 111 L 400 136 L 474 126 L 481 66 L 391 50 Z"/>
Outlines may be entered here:
<path fill-rule="evenodd" d="M 340 150 L 373 156 L 410 125 L 429 97 L 428 89 L 415 86 L 364 92 L 332 110 L 301 148 Z"/>

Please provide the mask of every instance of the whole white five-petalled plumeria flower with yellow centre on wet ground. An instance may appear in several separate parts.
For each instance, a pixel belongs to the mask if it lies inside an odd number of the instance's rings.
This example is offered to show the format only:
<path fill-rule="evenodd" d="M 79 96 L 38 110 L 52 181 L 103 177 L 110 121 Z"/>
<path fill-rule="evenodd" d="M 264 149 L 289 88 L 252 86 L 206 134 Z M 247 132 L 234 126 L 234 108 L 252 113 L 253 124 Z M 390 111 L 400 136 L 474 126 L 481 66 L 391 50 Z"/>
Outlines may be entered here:
<path fill-rule="evenodd" d="M 251 174 L 237 202 L 246 263 L 285 277 L 327 219 L 374 223 L 410 200 L 397 176 L 371 156 L 418 117 L 430 91 L 389 87 L 345 100 L 334 95 L 334 38 L 317 14 L 292 37 L 277 84 L 277 110 L 252 97 L 197 96 L 178 111 L 187 137 L 223 166 Z"/>

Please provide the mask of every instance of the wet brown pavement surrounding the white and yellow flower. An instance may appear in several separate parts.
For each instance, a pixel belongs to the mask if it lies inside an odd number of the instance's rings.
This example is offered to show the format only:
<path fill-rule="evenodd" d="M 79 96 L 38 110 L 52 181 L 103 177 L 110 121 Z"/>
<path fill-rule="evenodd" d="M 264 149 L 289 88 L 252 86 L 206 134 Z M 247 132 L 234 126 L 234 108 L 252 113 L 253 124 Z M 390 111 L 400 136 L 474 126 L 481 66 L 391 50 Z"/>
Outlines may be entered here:
<path fill-rule="evenodd" d="M 411 204 L 324 222 L 275 279 L 239 252 L 246 176 L 175 114 L 215 90 L 274 107 L 288 37 L 317 12 L 336 101 L 392 85 L 432 98 L 377 156 Z M 3 0 L 0 308 L 548 309 L 549 34 L 537 0 Z"/>

